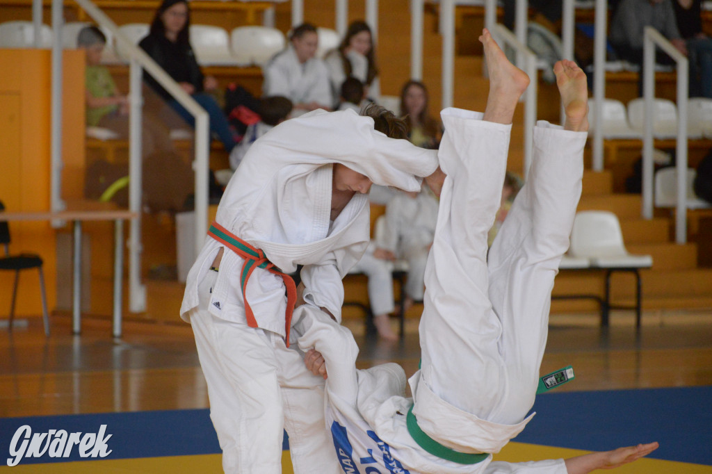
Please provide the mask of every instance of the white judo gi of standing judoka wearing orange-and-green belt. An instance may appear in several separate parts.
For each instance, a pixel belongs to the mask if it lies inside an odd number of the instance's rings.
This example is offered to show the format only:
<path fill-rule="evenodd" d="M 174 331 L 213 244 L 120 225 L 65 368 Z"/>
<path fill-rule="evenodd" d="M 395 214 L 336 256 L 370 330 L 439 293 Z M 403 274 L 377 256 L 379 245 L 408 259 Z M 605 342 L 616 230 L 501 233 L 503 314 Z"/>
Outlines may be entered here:
<path fill-rule="evenodd" d="M 356 194 L 330 221 L 333 163 L 375 183 L 420 189 L 438 166 L 436 152 L 374 130 L 370 117 L 315 110 L 287 120 L 248 150 L 220 201 L 216 222 L 256 248 L 285 273 L 304 265 L 304 300 L 341 320 L 342 277 L 369 238 L 368 196 Z M 206 238 L 191 268 L 181 316 L 191 322 L 208 385 L 211 419 L 227 472 L 279 473 L 283 428 L 295 473 L 337 472 L 324 426 L 324 381 L 304 367 L 283 340 L 283 279 L 256 268 L 246 299 L 237 253 L 226 250 L 219 272 L 209 270 L 224 245 Z M 294 338 L 292 338 L 294 339 Z"/>

